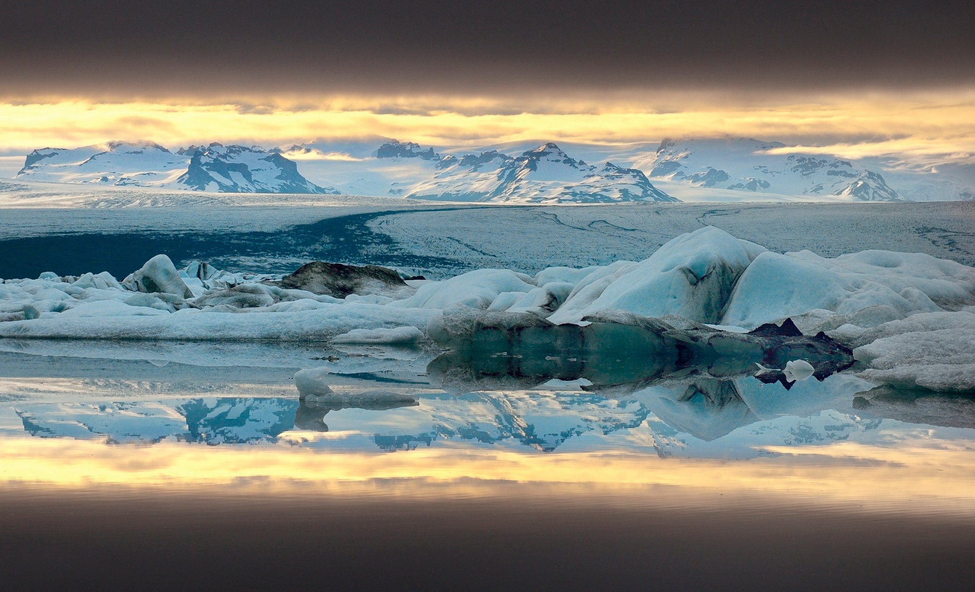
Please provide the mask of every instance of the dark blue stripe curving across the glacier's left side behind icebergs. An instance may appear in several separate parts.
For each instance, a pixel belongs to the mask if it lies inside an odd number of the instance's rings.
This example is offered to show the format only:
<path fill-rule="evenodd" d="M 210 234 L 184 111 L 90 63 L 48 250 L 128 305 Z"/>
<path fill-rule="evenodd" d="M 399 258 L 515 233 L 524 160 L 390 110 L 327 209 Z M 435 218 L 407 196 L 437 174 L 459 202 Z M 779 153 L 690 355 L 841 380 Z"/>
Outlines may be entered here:
<path fill-rule="evenodd" d="M 453 210 L 455 208 L 448 208 Z M 108 271 L 124 278 L 150 257 L 165 253 L 177 264 L 202 259 L 231 271 L 284 273 L 297 265 L 241 269 L 241 258 L 292 257 L 403 267 L 457 268 L 462 262 L 448 257 L 409 253 L 388 235 L 373 232 L 369 222 L 402 210 L 331 217 L 277 231 L 253 232 L 124 232 L 36 236 L 0 241 L 0 278 L 35 278 L 45 271 L 80 275 Z M 281 265 L 279 263 L 279 265 Z"/>

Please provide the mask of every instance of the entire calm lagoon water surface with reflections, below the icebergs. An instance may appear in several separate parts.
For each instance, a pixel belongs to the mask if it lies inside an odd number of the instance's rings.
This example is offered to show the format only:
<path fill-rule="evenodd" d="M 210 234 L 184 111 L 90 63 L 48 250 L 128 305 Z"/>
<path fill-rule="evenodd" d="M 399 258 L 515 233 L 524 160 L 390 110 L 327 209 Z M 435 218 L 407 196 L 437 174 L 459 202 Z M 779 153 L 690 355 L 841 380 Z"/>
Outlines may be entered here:
<path fill-rule="evenodd" d="M 0 342 L 4 587 L 975 581 L 971 398 L 849 374 L 597 386 L 439 353 Z M 292 376 L 315 366 L 415 401 L 305 403 Z"/>

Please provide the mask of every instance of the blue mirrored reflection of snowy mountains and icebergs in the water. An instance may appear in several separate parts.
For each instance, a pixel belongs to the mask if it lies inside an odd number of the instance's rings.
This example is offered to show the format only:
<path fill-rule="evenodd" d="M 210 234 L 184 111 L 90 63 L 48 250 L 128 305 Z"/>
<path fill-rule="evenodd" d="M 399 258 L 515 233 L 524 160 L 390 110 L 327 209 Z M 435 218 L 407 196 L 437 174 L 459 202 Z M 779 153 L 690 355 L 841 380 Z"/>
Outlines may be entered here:
<path fill-rule="evenodd" d="M 608 353 L 552 360 L 460 357 L 457 364 L 457 357 L 445 355 L 430 364 L 427 376 L 414 368 L 399 372 L 388 366 L 371 372 L 370 358 L 356 359 L 356 366 L 328 366 L 353 374 L 322 373 L 330 392 L 341 401 L 299 400 L 288 372 L 254 368 L 247 379 L 265 382 L 252 384 L 233 382 L 229 370 L 174 369 L 175 364 L 160 369 L 119 361 L 112 364 L 132 368 L 112 366 L 113 373 L 136 379 L 115 379 L 109 373 L 98 388 L 89 384 L 94 378 L 84 378 L 75 380 L 81 386 L 41 396 L 31 394 L 27 387 L 36 383 L 26 378 L 9 382 L 15 390 L 8 392 L 16 402 L 9 404 L 7 419 L 0 417 L 9 427 L 0 424 L 0 429 L 17 426 L 18 432 L 42 438 L 109 443 L 281 443 L 378 452 L 452 442 L 462 447 L 631 450 L 666 456 L 694 454 L 688 447 L 710 450 L 708 454 L 737 447 L 734 454 L 754 455 L 761 446 L 837 441 L 877 431 L 883 417 L 956 427 L 975 423 L 971 401 L 959 397 L 942 401 L 915 396 L 905 403 L 903 397 L 895 401 L 871 391 L 854 405 L 854 395 L 872 385 L 849 374 L 819 375 L 788 385 L 790 390 L 781 381 L 765 383 L 748 374 L 719 379 L 719 367 L 738 368 L 723 362 L 703 370 L 688 367 L 647 376 L 639 355 L 629 352 L 613 358 Z M 73 373 L 87 366 L 67 370 Z M 649 366 L 651 371 L 656 368 Z M 553 374 L 587 379 L 546 383 Z M 449 393 L 430 384 L 442 383 L 445 376 L 453 380 Z M 151 378 L 151 388 L 143 378 Z M 79 399 L 85 396 L 86 384 L 92 398 Z M 482 390 L 485 386 L 505 389 Z M 395 391 L 415 402 L 359 400 L 379 390 Z M 223 393 L 238 396 L 220 396 Z M 740 429 L 745 426 L 749 427 Z M 721 440 L 718 447 L 705 447 L 716 440 Z"/>

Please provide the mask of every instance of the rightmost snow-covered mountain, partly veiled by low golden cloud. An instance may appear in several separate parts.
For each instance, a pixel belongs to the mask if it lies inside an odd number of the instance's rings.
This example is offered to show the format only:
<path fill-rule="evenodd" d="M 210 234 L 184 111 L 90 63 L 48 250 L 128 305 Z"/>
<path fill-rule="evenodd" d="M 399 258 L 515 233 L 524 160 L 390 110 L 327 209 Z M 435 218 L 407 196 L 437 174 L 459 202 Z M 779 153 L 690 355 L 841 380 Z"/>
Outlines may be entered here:
<path fill-rule="evenodd" d="M 833 157 L 769 152 L 786 144 L 754 138 L 710 138 L 660 142 L 635 167 L 649 178 L 697 187 L 794 196 L 848 197 L 854 201 L 905 201 L 874 171 Z"/>

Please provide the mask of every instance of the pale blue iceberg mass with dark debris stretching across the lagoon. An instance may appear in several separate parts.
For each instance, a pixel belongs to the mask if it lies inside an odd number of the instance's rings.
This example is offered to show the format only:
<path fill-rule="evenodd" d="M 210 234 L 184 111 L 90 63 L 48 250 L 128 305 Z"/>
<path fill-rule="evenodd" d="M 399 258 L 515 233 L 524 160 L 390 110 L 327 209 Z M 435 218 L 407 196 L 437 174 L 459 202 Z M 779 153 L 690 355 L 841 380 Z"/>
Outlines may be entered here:
<path fill-rule="evenodd" d="M 973 312 L 975 269 L 953 261 L 777 254 L 714 226 L 643 261 L 533 276 L 478 269 L 427 281 L 324 261 L 282 276 L 200 261 L 177 269 L 159 255 L 122 281 L 47 272 L 0 284 L 0 337 L 436 342 L 520 355 L 522 366 L 561 357 L 566 369 L 573 357 L 626 351 L 669 372 L 682 356 L 711 356 L 796 379 L 839 369 L 852 350 L 854 370 L 875 382 L 959 392 L 975 390 Z M 790 339 L 799 349 L 783 345 Z"/>

